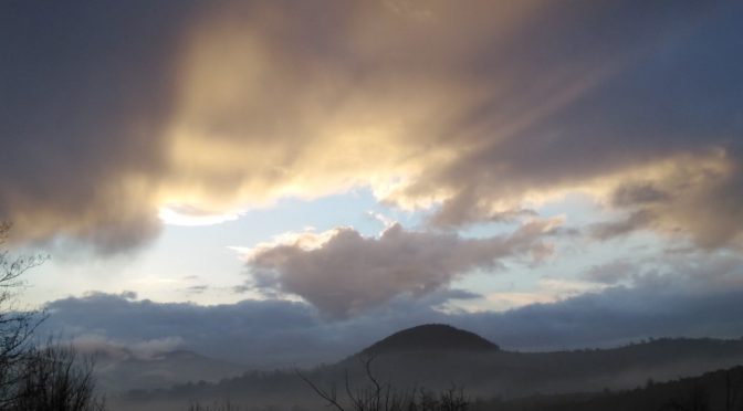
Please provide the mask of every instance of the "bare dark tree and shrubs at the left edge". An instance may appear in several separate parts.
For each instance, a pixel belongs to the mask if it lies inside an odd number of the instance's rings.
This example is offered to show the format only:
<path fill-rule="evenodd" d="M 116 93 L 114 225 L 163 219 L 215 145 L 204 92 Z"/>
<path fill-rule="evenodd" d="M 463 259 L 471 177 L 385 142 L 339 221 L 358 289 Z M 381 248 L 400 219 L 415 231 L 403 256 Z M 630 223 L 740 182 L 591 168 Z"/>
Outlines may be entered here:
<path fill-rule="evenodd" d="M 38 310 L 21 310 L 15 296 L 21 275 L 48 257 L 11 257 L 1 247 L 11 224 L 0 222 L 0 409 L 9 411 L 98 411 L 93 365 L 72 347 L 52 340 L 39 347 L 31 337 L 44 319 Z"/>

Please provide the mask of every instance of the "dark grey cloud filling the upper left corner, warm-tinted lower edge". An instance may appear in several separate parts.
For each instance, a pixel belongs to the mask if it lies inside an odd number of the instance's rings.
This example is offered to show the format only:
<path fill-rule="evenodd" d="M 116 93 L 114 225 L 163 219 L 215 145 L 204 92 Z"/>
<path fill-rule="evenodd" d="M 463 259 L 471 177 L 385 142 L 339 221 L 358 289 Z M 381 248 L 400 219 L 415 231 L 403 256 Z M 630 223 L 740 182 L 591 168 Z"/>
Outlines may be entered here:
<path fill-rule="evenodd" d="M 0 218 L 14 222 L 15 236 L 63 234 L 101 252 L 155 235 L 148 197 L 163 167 L 158 134 L 171 104 L 176 36 L 192 7 L 0 8 Z"/>

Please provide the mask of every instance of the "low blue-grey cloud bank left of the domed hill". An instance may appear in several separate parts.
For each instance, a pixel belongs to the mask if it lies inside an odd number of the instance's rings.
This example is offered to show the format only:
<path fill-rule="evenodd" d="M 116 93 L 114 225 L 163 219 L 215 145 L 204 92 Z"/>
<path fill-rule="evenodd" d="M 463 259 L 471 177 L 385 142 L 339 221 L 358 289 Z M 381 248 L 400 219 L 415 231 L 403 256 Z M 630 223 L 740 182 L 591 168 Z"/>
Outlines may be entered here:
<path fill-rule="evenodd" d="M 331 358 L 334 347 L 324 347 L 325 340 L 334 338 L 332 334 L 312 329 L 320 322 L 311 307 L 285 301 L 199 306 L 92 293 L 50 302 L 46 310 L 49 317 L 38 331 L 40 336 L 62 335 L 73 340 L 83 336 L 80 342 L 93 339 L 101 342 L 96 347 L 165 349 L 148 341 L 176 341 L 179 348 L 266 368 L 324 360 Z M 311 333 L 316 334 L 308 338 Z M 306 344 L 302 346 L 293 342 L 303 340 Z M 159 351 L 153 348 L 148 352 Z"/>

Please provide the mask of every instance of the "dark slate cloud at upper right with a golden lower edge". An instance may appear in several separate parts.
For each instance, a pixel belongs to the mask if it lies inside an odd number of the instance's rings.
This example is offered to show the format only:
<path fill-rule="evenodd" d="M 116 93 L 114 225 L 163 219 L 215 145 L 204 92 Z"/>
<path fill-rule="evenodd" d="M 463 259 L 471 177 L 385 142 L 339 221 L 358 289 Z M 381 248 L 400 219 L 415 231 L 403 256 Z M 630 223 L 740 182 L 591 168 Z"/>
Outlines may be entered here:
<path fill-rule="evenodd" d="M 734 73 L 743 70 L 735 51 L 743 45 L 737 23 L 742 10 L 677 4 L 671 10 L 653 3 L 646 10 L 615 3 L 587 11 L 588 23 L 537 30 L 537 39 L 559 39 L 552 42 L 557 54 L 617 64 L 513 138 L 490 139 L 471 154 L 430 168 L 408 188 L 411 196 L 431 186 L 452 188 L 456 194 L 433 219 L 451 225 L 489 219 L 490 201 L 519 207 L 525 192 L 586 185 L 589 192 L 605 191 L 611 199 L 608 207 L 630 214 L 600 230 L 600 236 L 645 228 L 688 235 L 709 247 L 740 241 L 743 173 L 737 136 L 743 116 L 736 107 L 743 103 L 743 86 Z M 546 39 L 535 43 L 551 44 Z M 557 67 L 565 63 L 548 52 L 535 55 Z M 618 55 L 626 57 L 624 63 Z M 588 64 L 576 70 L 588 75 L 593 68 Z M 542 92 L 537 94 L 550 94 L 547 88 Z M 491 115 L 481 117 L 483 128 L 494 118 L 492 110 L 485 113 Z M 711 148 L 720 151 L 712 154 Z M 646 175 L 638 176 L 640 170 Z M 515 201 L 503 201 L 509 198 Z"/>

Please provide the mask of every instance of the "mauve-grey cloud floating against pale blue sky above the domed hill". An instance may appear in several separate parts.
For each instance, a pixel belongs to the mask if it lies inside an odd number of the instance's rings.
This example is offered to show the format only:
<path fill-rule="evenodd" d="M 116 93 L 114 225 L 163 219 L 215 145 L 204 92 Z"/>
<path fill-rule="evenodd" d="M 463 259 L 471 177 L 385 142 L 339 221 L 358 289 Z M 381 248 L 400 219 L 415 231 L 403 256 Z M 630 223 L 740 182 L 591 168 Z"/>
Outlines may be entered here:
<path fill-rule="evenodd" d="M 379 238 L 364 238 L 337 228 L 284 235 L 244 255 L 259 291 L 295 294 L 331 317 L 348 317 L 400 294 L 439 291 L 472 270 L 494 271 L 507 257 L 543 259 L 551 252 L 543 236 L 556 225 L 534 220 L 510 235 L 486 239 L 407 231 L 399 224 Z"/>

